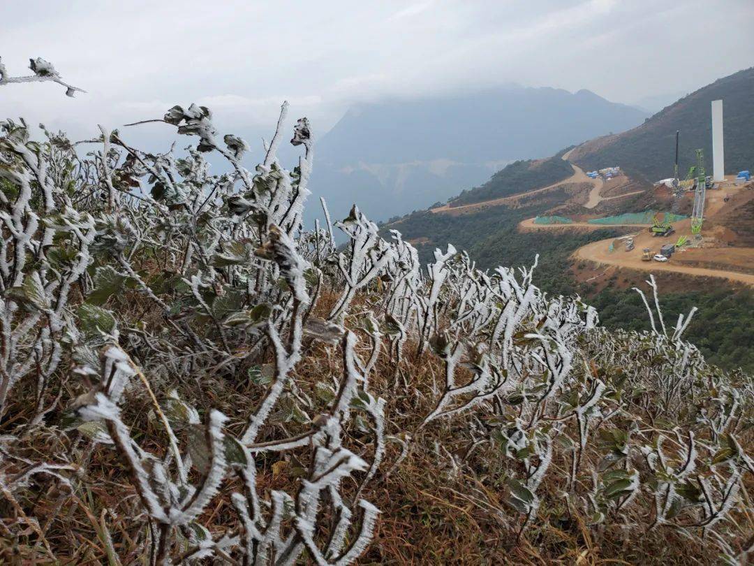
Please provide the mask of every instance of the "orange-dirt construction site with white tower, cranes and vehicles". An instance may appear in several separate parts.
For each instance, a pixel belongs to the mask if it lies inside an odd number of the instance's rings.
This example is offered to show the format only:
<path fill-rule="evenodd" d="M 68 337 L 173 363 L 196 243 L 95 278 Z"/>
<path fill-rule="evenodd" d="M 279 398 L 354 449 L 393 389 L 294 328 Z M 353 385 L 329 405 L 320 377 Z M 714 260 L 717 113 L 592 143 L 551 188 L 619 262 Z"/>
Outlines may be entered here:
<path fill-rule="evenodd" d="M 624 212 L 607 217 L 576 217 L 552 214 L 524 220 L 519 229 L 594 230 L 623 227 L 627 234 L 585 245 L 575 251 L 575 260 L 644 271 L 679 272 L 711 276 L 754 285 L 754 241 L 737 234 L 737 219 L 746 222 L 754 204 L 754 184 L 749 171 L 725 175 L 722 100 L 712 103 L 713 171 L 707 174 L 702 149 L 685 175 L 679 171 L 680 132 L 676 132 L 673 177 L 659 180 L 652 189 L 655 201 L 670 205 L 670 211 Z M 670 165 L 670 164 L 669 164 Z M 620 168 L 590 171 L 587 175 L 602 186 L 603 171 L 611 176 Z M 691 214 L 679 211 L 691 210 Z"/>

